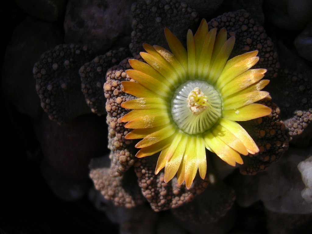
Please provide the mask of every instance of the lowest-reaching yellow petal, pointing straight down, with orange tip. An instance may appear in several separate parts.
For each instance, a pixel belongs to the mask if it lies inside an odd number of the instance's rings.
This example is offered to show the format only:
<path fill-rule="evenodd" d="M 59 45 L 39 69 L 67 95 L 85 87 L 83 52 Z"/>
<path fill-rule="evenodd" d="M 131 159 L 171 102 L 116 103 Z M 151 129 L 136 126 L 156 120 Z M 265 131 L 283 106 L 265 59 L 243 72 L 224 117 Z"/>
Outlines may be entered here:
<path fill-rule="evenodd" d="M 193 180 L 197 173 L 198 168 L 198 160 L 197 154 L 195 153 L 195 149 L 197 147 L 196 139 L 192 136 L 188 137 L 188 144 L 186 146 L 183 157 L 185 157 L 185 185 L 186 188 L 191 188 Z"/>

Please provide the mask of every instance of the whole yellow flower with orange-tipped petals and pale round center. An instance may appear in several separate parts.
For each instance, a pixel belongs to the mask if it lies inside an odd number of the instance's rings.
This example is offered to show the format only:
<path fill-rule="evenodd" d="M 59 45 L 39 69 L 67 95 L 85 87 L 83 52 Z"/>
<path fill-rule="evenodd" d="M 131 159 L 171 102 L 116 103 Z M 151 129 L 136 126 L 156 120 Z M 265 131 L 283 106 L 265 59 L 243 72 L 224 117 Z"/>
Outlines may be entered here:
<path fill-rule="evenodd" d="M 177 174 L 178 184 L 190 188 L 197 168 L 201 178 L 207 171 L 206 150 L 228 164 L 242 164 L 240 154 L 259 149 L 245 129 L 235 121 L 269 115 L 271 109 L 254 102 L 265 98 L 260 91 L 269 80 L 261 80 L 266 69 L 250 69 L 259 57 L 251 51 L 227 61 L 235 38 L 227 40 L 225 28 L 208 32 L 202 20 L 193 36 L 187 34 L 187 50 L 165 28 L 172 53 L 160 46 L 144 44 L 140 55 L 146 61 L 129 59 L 126 73 L 136 82 L 123 81 L 123 91 L 136 96 L 122 103 L 133 109 L 122 117 L 134 129 L 126 139 L 141 139 L 136 157 L 159 151 L 155 169 L 165 168 L 167 183 Z"/>

